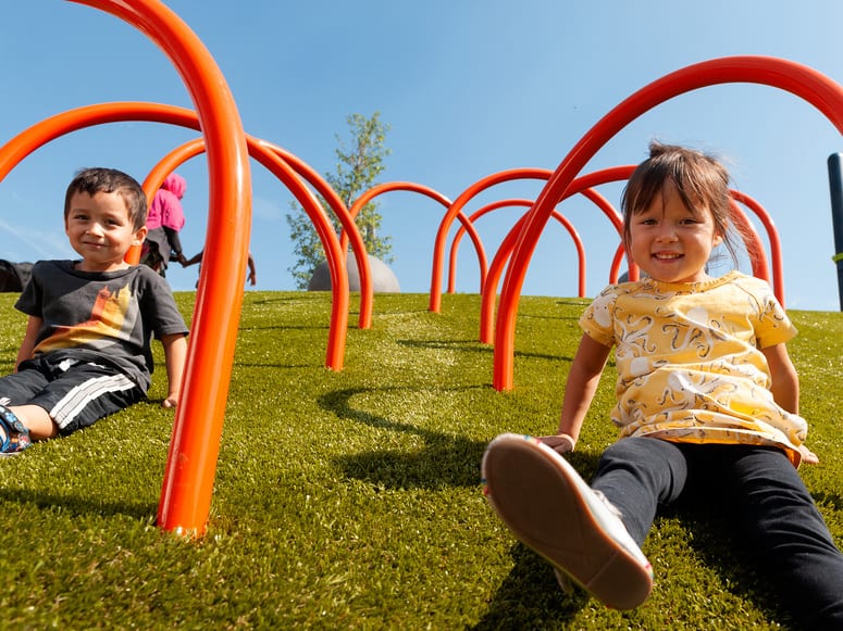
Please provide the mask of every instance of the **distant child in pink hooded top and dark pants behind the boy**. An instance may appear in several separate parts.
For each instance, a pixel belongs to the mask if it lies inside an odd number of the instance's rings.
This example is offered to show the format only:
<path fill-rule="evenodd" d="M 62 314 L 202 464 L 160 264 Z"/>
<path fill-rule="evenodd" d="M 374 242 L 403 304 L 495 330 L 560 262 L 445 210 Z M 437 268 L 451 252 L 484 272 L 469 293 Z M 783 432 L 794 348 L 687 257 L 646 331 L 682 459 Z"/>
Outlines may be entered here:
<path fill-rule="evenodd" d="M 185 225 L 182 199 L 187 191 L 187 181 L 177 173 L 171 173 L 164 179 L 152 198 L 147 217 L 147 238 L 140 254 L 140 262 L 161 276 L 166 275 L 170 260 L 175 258 L 184 265 L 181 231 Z"/>

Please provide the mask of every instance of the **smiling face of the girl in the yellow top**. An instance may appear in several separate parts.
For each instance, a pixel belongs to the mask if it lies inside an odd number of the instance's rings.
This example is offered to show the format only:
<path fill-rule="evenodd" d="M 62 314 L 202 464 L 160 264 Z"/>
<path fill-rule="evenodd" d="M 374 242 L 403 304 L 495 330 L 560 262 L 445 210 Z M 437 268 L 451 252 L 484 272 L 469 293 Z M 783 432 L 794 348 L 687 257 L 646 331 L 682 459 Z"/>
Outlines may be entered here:
<path fill-rule="evenodd" d="M 632 260 L 661 282 L 708 279 L 706 262 L 723 240 L 715 228 L 711 211 L 704 207 L 692 213 L 672 184 L 630 218 L 629 239 Z"/>

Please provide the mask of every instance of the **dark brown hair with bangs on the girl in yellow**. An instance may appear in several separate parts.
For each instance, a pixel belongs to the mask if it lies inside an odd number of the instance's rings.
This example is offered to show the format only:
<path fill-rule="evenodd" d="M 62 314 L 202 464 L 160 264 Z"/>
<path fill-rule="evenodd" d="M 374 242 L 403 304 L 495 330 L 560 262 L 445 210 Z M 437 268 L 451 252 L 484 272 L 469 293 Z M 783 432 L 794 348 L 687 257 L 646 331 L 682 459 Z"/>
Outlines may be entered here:
<path fill-rule="evenodd" d="M 632 173 L 623 189 L 623 242 L 630 239 L 632 217 L 646 211 L 656 195 L 672 184 L 682 203 L 697 215 L 711 211 L 715 230 L 737 265 L 736 240 L 744 240 L 741 228 L 732 222 L 729 172 L 715 157 L 686 147 L 650 142 L 649 157 Z"/>

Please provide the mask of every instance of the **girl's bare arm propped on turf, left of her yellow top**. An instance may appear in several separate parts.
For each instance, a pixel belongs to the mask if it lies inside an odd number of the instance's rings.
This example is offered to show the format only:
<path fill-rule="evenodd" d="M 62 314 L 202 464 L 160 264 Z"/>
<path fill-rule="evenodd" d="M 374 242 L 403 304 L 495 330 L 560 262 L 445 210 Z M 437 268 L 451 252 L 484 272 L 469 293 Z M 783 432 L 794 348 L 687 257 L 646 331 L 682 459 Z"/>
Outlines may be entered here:
<path fill-rule="evenodd" d="M 600 375 L 610 351 L 611 348 L 583 333 L 571 370 L 568 373 L 559 430 L 556 436 L 542 438 L 542 442 L 557 452 L 570 452 L 577 445 L 580 429 L 600 382 Z"/>

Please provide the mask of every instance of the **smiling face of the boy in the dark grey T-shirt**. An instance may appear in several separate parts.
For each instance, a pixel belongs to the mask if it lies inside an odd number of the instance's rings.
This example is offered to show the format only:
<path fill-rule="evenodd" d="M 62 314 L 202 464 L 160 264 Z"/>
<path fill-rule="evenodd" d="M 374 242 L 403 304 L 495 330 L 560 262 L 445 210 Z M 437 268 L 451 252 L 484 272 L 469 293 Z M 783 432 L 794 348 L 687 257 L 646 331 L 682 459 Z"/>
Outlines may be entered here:
<path fill-rule="evenodd" d="M 98 192 L 94 197 L 77 192 L 71 198 L 64 231 L 76 253 L 83 272 L 125 269 L 123 261 L 132 245 L 139 245 L 146 227 L 135 230 L 126 204 L 116 192 Z"/>

